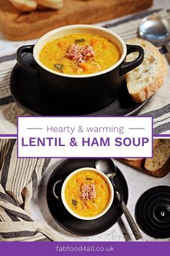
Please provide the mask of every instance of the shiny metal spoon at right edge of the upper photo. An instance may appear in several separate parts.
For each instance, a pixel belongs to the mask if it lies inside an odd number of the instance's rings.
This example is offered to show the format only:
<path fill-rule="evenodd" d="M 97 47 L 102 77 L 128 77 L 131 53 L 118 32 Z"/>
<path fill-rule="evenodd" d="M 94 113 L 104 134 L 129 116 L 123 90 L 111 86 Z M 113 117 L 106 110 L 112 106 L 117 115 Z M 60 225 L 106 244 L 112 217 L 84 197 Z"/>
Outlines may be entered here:
<path fill-rule="evenodd" d="M 155 46 L 166 46 L 170 53 L 170 22 L 158 14 L 144 18 L 138 27 L 140 38 L 146 39 Z"/>

